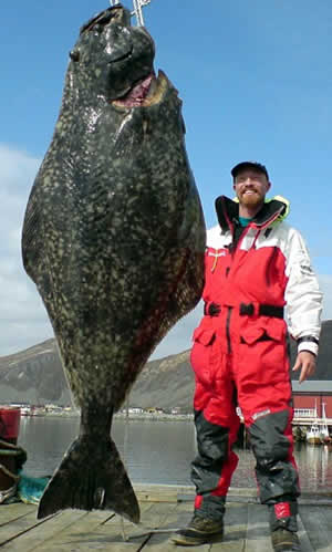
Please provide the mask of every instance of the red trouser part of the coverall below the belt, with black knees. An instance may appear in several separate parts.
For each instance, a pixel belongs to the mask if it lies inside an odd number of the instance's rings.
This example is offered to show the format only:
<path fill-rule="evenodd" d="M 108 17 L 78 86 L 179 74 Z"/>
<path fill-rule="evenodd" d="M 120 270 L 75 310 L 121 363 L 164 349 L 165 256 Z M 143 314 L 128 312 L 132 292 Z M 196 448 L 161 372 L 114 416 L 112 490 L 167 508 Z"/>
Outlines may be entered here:
<path fill-rule="evenodd" d="M 238 319 L 236 333 L 230 335 L 221 319 L 207 320 L 194 333 L 190 361 L 196 379 L 198 455 L 191 479 L 197 489 L 196 508 L 204 497 L 225 500 L 238 464 L 232 450 L 240 424 L 237 406 L 257 459 L 261 502 L 295 501 L 300 493 L 286 324 L 283 320 L 261 319 L 250 326 Z"/>

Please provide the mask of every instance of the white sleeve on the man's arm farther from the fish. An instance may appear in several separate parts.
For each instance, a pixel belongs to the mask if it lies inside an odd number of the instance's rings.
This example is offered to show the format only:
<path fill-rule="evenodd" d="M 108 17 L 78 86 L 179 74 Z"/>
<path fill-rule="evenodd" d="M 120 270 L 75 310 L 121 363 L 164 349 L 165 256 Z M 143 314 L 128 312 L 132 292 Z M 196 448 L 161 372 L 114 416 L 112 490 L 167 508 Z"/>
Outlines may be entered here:
<path fill-rule="evenodd" d="M 289 331 L 298 342 L 298 352 L 311 351 L 317 355 L 323 296 L 302 236 L 294 228 L 289 231 L 284 295 Z"/>

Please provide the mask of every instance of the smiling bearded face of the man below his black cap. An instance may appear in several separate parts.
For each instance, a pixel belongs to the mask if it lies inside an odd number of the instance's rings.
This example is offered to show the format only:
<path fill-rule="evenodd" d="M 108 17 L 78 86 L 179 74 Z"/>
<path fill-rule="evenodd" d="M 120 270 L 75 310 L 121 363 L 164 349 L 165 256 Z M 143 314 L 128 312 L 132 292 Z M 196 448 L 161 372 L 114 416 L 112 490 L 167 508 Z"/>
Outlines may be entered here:
<path fill-rule="evenodd" d="M 243 207 L 255 208 L 263 204 L 271 184 L 263 173 L 248 168 L 236 176 L 232 187 Z"/>

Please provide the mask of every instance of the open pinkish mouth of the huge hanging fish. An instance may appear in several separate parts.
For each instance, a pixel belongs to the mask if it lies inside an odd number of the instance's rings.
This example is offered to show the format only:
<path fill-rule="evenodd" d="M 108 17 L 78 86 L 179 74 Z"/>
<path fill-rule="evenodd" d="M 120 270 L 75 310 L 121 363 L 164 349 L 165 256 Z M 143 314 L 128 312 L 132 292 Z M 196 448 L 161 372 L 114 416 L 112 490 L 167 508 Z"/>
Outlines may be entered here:
<path fill-rule="evenodd" d="M 160 103 L 168 86 L 168 79 L 163 71 L 158 71 L 157 77 L 152 72 L 137 81 L 124 96 L 113 100 L 111 104 L 120 110 L 149 107 Z"/>

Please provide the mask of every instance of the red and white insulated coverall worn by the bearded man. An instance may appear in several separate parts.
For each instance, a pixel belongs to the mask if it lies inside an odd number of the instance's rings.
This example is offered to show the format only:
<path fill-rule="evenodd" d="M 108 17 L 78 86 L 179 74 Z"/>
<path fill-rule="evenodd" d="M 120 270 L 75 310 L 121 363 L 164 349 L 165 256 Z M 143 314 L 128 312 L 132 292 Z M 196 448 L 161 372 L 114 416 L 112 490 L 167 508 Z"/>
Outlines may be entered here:
<path fill-rule="evenodd" d="M 219 518 L 238 458 L 239 406 L 256 456 L 260 500 L 270 504 L 272 529 L 295 530 L 300 493 L 293 458 L 293 416 L 287 345 L 318 353 L 322 295 L 301 235 L 283 219 L 288 202 L 264 202 L 246 227 L 239 206 L 216 200 L 219 225 L 208 231 L 205 315 L 194 332 L 195 425 L 191 465 L 195 510 Z"/>

